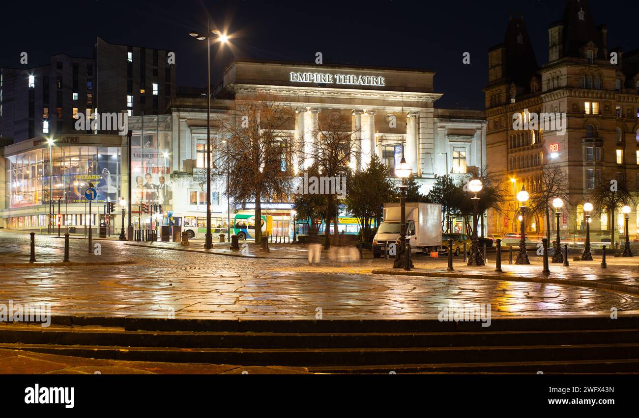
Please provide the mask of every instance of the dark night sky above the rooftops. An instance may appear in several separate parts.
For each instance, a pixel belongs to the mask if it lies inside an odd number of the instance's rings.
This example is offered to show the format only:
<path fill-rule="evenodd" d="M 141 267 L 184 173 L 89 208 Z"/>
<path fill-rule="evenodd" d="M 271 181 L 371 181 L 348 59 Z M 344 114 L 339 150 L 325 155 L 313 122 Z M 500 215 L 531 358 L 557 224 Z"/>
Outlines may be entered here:
<path fill-rule="evenodd" d="M 626 4 L 624 6 L 624 3 Z M 0 66 L 49 63 L 58 52 L 92 56 L 96 36 L 112 43 L 176 51 L 178 86 L 206 86 L 205 43 L 188 35 L 206 15 L 233 37 L 232 52 L 212 50 L 212 82 L 233 56 L 432 68 L 437 107 L 483 108 L 489 47 L 503 40 L 511 13 L 523 14 L 538 63 L 548 58 L 548 24 L 560 20 L 563 0 L 84 0 L 4 1 Z M 608 7 L 606 7 L 608 6 Z M 515 9 L 516 8 L 516 9 Z M 608 24 L 608 46 L 639 48 L 636 1 L 590 0 L 596 24 Z M 634 35 L 634 36 L 633 36 Z M 463 52 L 471 64 L 461 63 Z"/>

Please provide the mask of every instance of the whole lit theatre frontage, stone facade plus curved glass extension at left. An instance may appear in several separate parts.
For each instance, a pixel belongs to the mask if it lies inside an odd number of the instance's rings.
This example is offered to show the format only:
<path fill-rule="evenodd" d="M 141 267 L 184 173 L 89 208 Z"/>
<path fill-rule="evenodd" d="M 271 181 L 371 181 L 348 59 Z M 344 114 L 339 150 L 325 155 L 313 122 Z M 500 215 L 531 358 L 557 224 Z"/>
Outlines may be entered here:
<path fill-rule="evenodd" d="M 214 93 L 210 107 L 213 161 L 210 204 L 213 226 L 226 228 L 235 214 L 250 214 L 254 211 L 253 202 L 228 202 L 224 193 L 226 166 L 223 154 L 219 152 L 224 147 L 222 128 L 231 120 L 238 101 L 263 100 L 266 97 L 290 105 L 295 112 L 295 119 L 291 120 L 289 126 L 282 127 L 282 136 L 289 137 L 291 142 L 303 144 L 304 147 L 312 146 L 316 141 L 314 132 L 317 132 L 319 120 L 335 112 L 346 115 L 351 118 L 362 153 L 356 169 L 366 168 L 371 156 L 376 154 L 389 168 L 389 178 L 397 181 L 394 178 L 394 166 L 397 154 L 400 153 L 401 158 L 403 151 L 413 174 L 421 184 L 420 191 L 424 194 L 428 193 L 438 175 L 449 173 L 461 179 L 470 172 L 483 170 L 486 163 L 484 112 L 436 108 L 435 103 L 442 94 L 435 92 L 434 77 L 432 70 L 424 69 L 255 60 L 231 63 L 224 70 L 222 82 Z M 90 153 L 96 155 L 95 167 L 90 165 L 89 169 L 87 166 L 84 170 L 87 173 L 102 173 L 100 163 L 104 155 L 118 161 L 117 170 L 112 172 L 112 175 L 118 176 L 114 177 L 115 183 L 110 183 L 111 188 L 103 186 L 112 190 L 111 194 L 104 192 L 100 196 L 132 199 L 134 205 L 142 202 L 161 204 L 163 211 L 182 216 L 189 214 L 203 226 L 206 213 L 206 95 L 178 93 L 165 115 L 130 117 L 129 128 L 133 131 L 131 197 L 128 196 L 127 153 L 123 153 L 122 148 L 126 145 L 127 137 L 112 138 L 109 135 L 109 140 L 114 141 L 114 149 L 106 149 L 104 153 L 101 148 L 96 147 L 108 147 L 110 143 L 107 138 L 100 135 L 82 138 L 82 146 L 93 146 Z M 102 144 L 102 140 L 106 142 Z M 85 144 L 86 141 L 91 144 Z M 16 204 L 23 203 L 17 202 L 33 201 L 31 206 L 34 209 L 42 208 L 40 212 L 46 213 L 49 196 L 54 200 L 64 196 L 64 193 L 60 194 L 60 191 L 55 190 L 55 184 L 63 184 L 61 187 L 67 190 L 67 200 L 73 200 L 73 196 L 77 194 L 71 187 L 73 182 L 83 181 L 71 178 L 49 181 L 45 176 L 42 181 L 54 183 L 50 190 L 36 184 L 35 188 L 40 190 L 37 196 L 35 191 L 27 192 L 31 195 L 21 193 L 22 197 L 14 196 L 17 190 L 13 190 L 9 184 L 17 181 L 17 177 L 12 176 L 19 163 L 12 158 L 15 160 L 18 154 L 27 153 L 32 146 L 27 146 L 29 149 L 25 150 L 20 147 L 23 146 L 14 144 L 4 148 L 3 161 L 7 167 L 3 172 L 8 180 L 3 189 L 6 190 L 7 197 L 4 200 L 7 205 L 0 211 L 0 216 L 6 227 L 13 227 L 14 223 L 16 226 L 20 225 L 22 212 L 17 212 Z M 40 157 L 33 158 L 35 161 L 42 159 L 42 170 L 46 174 L 47 168 L 44 165 L 49 161 L 45 159 L 49 153 L 47 144 L 40 144 L 33 151 L 40 153 Z M 77 153 L 78 161 L 84 161 L 82 149 Z M 114 154 L 116 157 L 112 157 Z M 75 158 L 75 154 L 73 155 Z M 86 161 L 89 161 L 88 155 L 89 149 L 86 151 Z M 72 161 L 72 157 L 69 156 L 67 160 Z M 20 161 L 20 164 L 24 164 L 24 158 Z M 53 161 L 55 167 L 55 155 Z M 16 168 L 13 168 L 14 165 Z M 303 169 L 301 165 L 302 161 L 299 170 Z M 38 168 L 35 173 L 38 173 L 37 170 Z M 57 200 L 55 201 L 57 204 Z M 62 202 L 65 202 L 64 197 Z M 262 207 L 263 213 L 273 216 L 273 235 L 292 235 L 291 202 L 264 202 Z M 79 209 L 84 213 L 84 204 Z M 24 216 L 27 216 L 27 211 Z M 28 213 L 28 216 L 33 215 Z M 18 219 L 14 221 L 13 218 Z M 139 213 L 139 207 L 135 206 L 132 207 L 132 218 L 134 226 L 136 222 L 146 225 L 151 221 L 145 221 L 144 215 Z M 99 222 L 100 219 L 96 221 Z M 26 226 L 26 221 L 23 222 L 22 225 Z M 119 222 L 119 213 L 114 214 L 112 222 Z M 459 229 L 461 230 L 461 226 Z"/>

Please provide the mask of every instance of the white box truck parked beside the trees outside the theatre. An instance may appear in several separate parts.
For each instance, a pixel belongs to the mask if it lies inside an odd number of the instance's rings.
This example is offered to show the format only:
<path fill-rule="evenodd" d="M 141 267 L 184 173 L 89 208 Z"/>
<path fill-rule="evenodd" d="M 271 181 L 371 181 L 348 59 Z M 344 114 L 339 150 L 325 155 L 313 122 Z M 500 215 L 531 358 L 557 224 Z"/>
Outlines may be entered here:
<path fill-rule="evenodd" d="M 411 252 L 438 251 L 442 246 L 442 205 L 434 203 L 406 203 L 407 236 Z M 384 247 L 390 248 L 399 238 L 401 206 L 385 203 L 377 234 L 373 237 L 373 257 L 379 258 Z"/>

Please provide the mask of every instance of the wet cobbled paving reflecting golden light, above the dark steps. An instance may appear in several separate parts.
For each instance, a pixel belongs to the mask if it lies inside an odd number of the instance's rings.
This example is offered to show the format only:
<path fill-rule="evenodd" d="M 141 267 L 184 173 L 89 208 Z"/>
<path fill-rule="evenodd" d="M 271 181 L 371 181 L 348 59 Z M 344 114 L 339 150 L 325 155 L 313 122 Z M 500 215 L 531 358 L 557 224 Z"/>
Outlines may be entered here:
<path fill-rule="evenodd" d="M 63 241 L 38 235 L 38 253 L 61 258 Z M 491 304 L 493 315 L 639 313 L 639 298 L 567 285 L 371 274 L 388 260 L 238 258 L 102 241 L 88 255 L 71 240 L 71 259 L 135 265 L 0 267 L 0 302 L 49 302 L 52 315 L 175 318 L 431 318 L 449 301 Z M 7 249 L 10 249 L 9 251 Z M 28 235 L 0 232 L 2 260 L 28 253 Z M 334 253 L 336 254 L 336 253 Z M 326 256 L 326 255 L 325 255 Z M 326 257 L 325 257 L 326 258 Z M 424 261 L 425 262 L 425 261 Z M 418 261 L 417 263 L 420 263 Z"/>

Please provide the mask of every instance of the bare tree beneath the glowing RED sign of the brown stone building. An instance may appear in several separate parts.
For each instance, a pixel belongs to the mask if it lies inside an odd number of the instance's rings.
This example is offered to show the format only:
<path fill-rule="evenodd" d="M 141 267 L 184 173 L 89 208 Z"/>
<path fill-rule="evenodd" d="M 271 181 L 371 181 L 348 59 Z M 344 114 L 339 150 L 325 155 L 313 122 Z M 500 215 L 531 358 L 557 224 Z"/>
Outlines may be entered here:
<path fill-rule="evenodd" d="M 529 193 L 530 200 L 528 200 L 528 207 L 530 207 L 530 211 L 546 217 L 546 238 L 548 238 L 548 243 L 550 243 L 552 222 L 551 202 L 558 197 L 564 200 L 566 207 L 569 205 L 568 177 L 566 171 L 558 165 L 544 166 L 537 190 L 531 190 Z"/>

